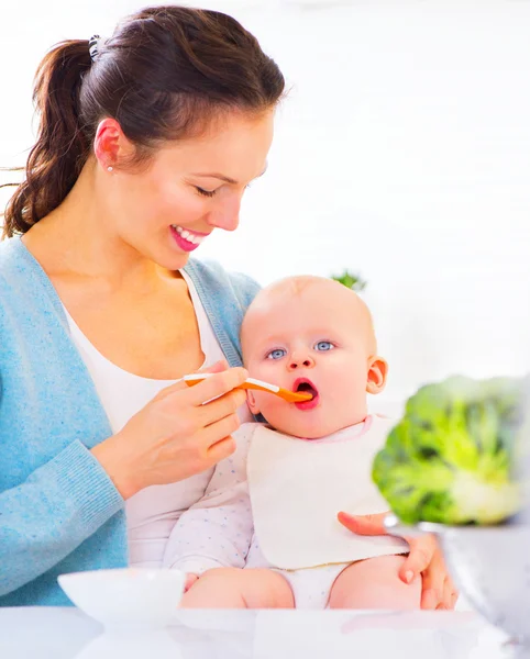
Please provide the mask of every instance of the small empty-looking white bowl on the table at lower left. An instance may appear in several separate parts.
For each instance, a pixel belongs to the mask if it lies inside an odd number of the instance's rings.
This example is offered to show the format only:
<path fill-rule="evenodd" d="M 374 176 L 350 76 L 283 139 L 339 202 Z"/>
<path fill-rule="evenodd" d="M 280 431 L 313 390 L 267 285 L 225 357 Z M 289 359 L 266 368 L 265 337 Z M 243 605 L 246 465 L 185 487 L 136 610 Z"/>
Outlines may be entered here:
<path fill-rule="evenodd" d="M 176 619 L 186 574 L 179 570 L 125 568 L 60 574 L 74 604 L 106 627 L 159 628 Z"/>

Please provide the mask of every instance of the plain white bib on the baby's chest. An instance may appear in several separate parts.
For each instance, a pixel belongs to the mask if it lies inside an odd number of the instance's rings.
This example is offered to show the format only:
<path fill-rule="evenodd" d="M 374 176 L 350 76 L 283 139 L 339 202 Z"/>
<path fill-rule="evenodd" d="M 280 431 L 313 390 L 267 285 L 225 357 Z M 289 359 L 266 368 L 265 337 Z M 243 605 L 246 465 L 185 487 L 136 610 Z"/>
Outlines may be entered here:
<path fill-rule="evenodd" d="M 391 536 L 360 536 L 336 520 L 382 513 L 388 503 L 372 482 L 372 463 L 394 422 L 345 428 L 331 439 L 299 439 L 256 425 L 249 449 L 249 491 L 264 557 L 285 570 L 353 562 L 408 551 Z"/>

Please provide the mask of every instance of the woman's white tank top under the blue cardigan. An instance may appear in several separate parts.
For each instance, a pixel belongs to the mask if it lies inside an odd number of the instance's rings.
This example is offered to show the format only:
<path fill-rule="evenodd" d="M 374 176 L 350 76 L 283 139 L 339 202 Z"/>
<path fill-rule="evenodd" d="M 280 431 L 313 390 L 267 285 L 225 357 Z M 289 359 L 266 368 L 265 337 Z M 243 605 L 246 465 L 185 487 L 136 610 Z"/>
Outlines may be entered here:
<path fill-rule="evenodd" d="M 202 367 L 211 366 L 224 355 L 213 333 L 197 290 L 180 270 L 194 304 L 205 355 Z M 166 387 L 177 380 L 142 378 L 112 364 L 82 334 L 65 309 L 71 338 L 93 380 L 96 391 L 109 417 L 112 432 L 119 432 L 128 421 Z M 246 405 L 240 407 L 242 423 L 253 421 Z M 199 501 L 213 469 L 169 485 L 153 485 L 141 490 L 125 503 L 129 532 L 129 563 L 135 567 L 159 567 L 169 534 L 181 513 Z"/>

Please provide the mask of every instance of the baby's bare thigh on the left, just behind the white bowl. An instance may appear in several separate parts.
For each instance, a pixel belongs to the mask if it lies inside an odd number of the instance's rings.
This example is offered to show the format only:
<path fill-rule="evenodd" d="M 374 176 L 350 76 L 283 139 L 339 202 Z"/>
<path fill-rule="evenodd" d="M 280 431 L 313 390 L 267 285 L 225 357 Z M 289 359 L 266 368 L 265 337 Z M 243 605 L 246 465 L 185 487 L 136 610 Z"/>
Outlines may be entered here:
<path fill-rule="evenodd" d="M 294 608 L 287 581 L 272 570 L 208 570 L 184 595 L 183 608 Z"/>

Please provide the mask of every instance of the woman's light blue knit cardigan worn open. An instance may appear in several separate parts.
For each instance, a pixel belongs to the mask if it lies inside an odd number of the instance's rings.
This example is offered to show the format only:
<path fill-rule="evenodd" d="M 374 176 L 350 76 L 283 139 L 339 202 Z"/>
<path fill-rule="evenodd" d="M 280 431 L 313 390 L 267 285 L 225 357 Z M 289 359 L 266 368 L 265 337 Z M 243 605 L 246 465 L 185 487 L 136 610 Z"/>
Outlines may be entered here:
<path fill-rule="evenodd" d="M 231 366 L 258 286 L 219 265 L 186 271 Z M 49 279 L 0 242 L 0 606 L 69 605 L 57 576 L 128 565 L 124 502 L 89 449 L 112 435 Z"/>

